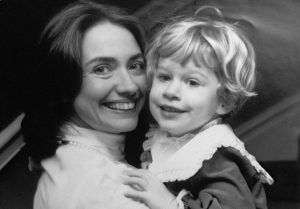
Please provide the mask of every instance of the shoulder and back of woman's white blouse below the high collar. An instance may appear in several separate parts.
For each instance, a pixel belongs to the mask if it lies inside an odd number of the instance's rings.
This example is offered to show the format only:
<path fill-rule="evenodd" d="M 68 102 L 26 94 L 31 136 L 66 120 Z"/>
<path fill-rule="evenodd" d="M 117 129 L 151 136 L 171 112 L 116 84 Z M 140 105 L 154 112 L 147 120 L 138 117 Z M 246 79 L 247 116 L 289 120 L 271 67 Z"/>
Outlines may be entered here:
<path fill-rule="evenodd" d="M 79 156 L 85 159 L 79 158 L 77 165 L 74 159 L 71 162 L 73 165 L 69 165 L 71 159 L 58 162 L 59 158 L 68 156 L 64 152 L 67 150 L 58 149 L 52 159 L 43 163 L 45 171 L 35 195 L 37 206 L 51 205 L 50 208 L 64 209 L 77 208 L 79 205 L 86 208 L 146 208 L 125 198 L 123 194 L 126 187 L 122 184 L 122 172 L 128 168 L 127 164 L 81 153 Z"/>

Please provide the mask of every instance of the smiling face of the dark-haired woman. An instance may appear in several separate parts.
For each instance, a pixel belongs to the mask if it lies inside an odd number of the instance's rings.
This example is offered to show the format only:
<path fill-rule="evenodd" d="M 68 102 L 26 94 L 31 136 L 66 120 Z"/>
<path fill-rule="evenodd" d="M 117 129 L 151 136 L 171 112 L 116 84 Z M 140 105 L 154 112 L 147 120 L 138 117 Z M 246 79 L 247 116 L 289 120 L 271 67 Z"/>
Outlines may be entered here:
<path fill-rule="evenodd" d="M 145 60 L 127 29 L 100 23 L 82 41 L 83 82 L 74 101 L 77 124 L 108 133 L 136 128 L 147 89 Z"/>

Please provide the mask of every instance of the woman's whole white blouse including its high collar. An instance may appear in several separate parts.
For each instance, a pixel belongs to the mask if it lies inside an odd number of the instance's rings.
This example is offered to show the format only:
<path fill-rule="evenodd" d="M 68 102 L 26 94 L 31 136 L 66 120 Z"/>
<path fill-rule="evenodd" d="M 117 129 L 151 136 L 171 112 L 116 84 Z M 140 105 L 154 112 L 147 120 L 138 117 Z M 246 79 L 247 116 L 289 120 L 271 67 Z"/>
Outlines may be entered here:
<path fill-rule="evenodd" d="M 124 196 L 124 136 L 105 135 L 75 125 L 65 126 L 56 154 L 42 161 L 45 169 L 34 209 L 147 209 Z"/>

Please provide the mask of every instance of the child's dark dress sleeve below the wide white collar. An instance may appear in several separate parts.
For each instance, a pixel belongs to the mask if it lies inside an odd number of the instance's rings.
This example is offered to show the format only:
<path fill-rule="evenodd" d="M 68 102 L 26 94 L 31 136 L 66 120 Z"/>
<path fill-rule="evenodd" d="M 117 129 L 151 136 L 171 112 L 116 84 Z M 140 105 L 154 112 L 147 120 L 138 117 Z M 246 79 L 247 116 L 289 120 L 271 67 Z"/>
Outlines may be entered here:
<path fill-rule="evenodd" d="M 255 170 L 242 156 L 218 150 L 191 178 L 191 196 L 183 201 L 189 209 L 266 209 L 266 198 Z M 255 191 L 253 194 L 252 187 Z"/>

